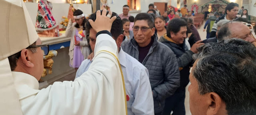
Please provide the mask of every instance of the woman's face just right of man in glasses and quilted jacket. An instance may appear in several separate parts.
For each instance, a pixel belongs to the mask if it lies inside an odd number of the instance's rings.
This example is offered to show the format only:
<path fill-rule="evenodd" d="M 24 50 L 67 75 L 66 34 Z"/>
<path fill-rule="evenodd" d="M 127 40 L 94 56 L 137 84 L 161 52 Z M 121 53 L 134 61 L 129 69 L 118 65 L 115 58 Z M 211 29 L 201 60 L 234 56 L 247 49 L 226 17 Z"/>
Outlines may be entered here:
<path fill-rule="evenodd" d="M 155 28 L 157 30 L 156 35 L 157 35 L 157 38 L 159 40 L 161 38 L 161 36 L 166 34 L 165 21 L 164 21 L 164 18 L 162 16 L 157 16 L 155 18 Z"/>

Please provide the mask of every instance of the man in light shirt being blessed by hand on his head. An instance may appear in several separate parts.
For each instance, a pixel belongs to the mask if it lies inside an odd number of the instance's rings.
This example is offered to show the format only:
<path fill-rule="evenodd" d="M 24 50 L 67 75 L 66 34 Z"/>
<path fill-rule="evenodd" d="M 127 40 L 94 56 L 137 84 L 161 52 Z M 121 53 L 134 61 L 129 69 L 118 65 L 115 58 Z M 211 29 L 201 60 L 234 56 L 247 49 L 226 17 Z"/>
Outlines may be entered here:
<path fill-rule="evenodd" d="M 117 14 L 113 12 L 112 16 L 117 16 Z M 89 19 L 95 20 L 96 13 L 91 14 Z M 113 22 L 110 32 L 114 40 L 116 40 L 119 51 L 118 58 L 124 75 L 128 115 L 154 115 L 154 101 L 148 69 L 122 50 L 121 44 L 124 36 L 122 34 L 122 20 L 120 17 L 117 17 Z M 96 31 L 89 22 L 86 23 L 86 33 L 90 34 L 90 46 L 92 51 L 94 51 Z M 87 71 L 93 62 L 94 59 L 92 61 L 90 59 L 84 60 L 76 72 L 76 78 L 80 78 L 80 75 Z"/>

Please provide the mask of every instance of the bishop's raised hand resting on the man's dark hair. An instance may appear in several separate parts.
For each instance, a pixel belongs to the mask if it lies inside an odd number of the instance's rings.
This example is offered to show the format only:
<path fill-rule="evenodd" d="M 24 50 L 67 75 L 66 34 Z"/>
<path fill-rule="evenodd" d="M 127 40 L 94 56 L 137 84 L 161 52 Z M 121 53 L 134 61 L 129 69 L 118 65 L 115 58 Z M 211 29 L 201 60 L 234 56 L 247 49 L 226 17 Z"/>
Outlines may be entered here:
<path fill-rule="evenodd" d="M 104 9 L 102 11 L 102 15 L 100 14 L 100 10 L 98 10 L 96 12 L 96 20 L 95 21 L 93 21 L 91 19 L 88 20 L 90 22 L 92 28 L 96 32 L 100 32 L 100 31 L 103 31 L 103 30 L 108 30 L 108 32 L 110 32 L 112 23 L 114 22 L 114 20 L 116 20 L 116 16 L 113 16 L 112 18 L 109 18 L 109 17 L 106 16 L 106 14 L 107 14 L 106 9 Z M 112 16 L 112 11 L 109 11 L 108 15 Z"/>

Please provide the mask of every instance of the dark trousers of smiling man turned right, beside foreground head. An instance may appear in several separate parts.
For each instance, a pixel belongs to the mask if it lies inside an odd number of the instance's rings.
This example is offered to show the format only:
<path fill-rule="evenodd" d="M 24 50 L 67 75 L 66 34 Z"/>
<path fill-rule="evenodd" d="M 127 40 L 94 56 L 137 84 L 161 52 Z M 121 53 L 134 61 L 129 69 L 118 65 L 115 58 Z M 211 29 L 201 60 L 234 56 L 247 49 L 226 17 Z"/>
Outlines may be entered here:
<path fill-rule="evenodd" d="M 185 92 L 186 89 L 178 89 L 174 95 L 166 98 L 163 115 L 186 115 L 185 111 Z"/>

